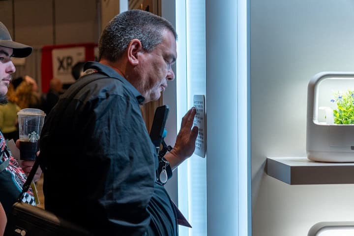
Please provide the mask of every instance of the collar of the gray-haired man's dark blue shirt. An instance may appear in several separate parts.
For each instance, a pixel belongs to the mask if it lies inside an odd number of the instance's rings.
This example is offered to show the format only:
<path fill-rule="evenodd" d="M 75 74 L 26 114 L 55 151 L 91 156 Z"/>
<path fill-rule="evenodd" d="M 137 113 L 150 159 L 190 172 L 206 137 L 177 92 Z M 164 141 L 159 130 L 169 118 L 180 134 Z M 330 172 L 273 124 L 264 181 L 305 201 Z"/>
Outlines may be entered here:
<path fill-rule="evenodd" d="M 108 77 L 114 77 L 114 78 L 119 78 L 120 81 L 126 85 L 129 90 L 133 93 L 133 95 L 136 97 L 138 100 L 139 104 L 143 103 L 145 98 L 139 91 L 131 84 L 129 83 L 128 80 L 126 80 L 123 76 L 121 76 L 116 70 L 114 70 L 112 67 L 103 65 L 98 62 L 87 62 L 84 66 L 84 71 L 87 69 L 96 69 L 98 72 L 107 75 Z"/>

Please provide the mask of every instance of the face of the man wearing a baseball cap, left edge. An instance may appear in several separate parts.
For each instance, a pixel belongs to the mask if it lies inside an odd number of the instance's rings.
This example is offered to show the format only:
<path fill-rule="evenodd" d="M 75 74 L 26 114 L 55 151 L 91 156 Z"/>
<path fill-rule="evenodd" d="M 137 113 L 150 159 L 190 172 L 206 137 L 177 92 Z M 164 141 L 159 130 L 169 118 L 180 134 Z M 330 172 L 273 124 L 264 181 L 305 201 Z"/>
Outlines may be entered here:
<path fill-rule="evenodd" d="M 11 61 L 12 48 L 0 46 L 0 97 L 7 93 L 7 87 L 11 81 L 11 74 L 16 71 Z"/>

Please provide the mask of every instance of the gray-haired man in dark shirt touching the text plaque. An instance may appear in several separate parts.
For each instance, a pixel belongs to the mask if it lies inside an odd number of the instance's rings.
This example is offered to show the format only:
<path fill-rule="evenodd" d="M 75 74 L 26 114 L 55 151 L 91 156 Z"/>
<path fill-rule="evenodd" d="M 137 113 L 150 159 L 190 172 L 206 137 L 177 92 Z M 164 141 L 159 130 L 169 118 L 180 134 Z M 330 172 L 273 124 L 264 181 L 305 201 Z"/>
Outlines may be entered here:
<path fill-rule="evenodd" d="M 43 127 L 46 209 L 95 235 L 178 235 L 177 209 L 159 175 L 163 169 L 171 177 L 193 154 L 196 110 L 183 117 L 162 162 L 140 110 L 175 78 L 176 38 L 168 21 L 145 11 L 126 11 L 110 21 L 100 37 L 99 62 L 85 65 Z"/>

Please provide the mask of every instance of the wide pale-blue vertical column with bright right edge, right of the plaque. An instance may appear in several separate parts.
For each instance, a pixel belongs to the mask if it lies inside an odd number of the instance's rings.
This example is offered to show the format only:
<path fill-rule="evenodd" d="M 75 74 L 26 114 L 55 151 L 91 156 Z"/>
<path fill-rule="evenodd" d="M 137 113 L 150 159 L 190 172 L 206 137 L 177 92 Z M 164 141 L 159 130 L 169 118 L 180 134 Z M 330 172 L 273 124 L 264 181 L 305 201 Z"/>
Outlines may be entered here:
<path fill-rule="evenodd" d="M 242 27 L 245 15 L 238 18 L 247 8 L 242 2 L 206 0 L 208 236 L 247 235 L 247 220 L 239 221 L 248 217 L 250 196 L 247 28 Z"/>

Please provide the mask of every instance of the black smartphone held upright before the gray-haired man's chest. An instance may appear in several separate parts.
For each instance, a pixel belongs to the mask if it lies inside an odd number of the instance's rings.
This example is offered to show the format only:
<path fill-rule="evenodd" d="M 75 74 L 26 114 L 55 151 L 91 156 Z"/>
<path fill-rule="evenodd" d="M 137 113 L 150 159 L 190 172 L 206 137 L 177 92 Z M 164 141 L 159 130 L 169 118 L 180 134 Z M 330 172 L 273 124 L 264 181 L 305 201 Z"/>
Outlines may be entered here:
<path fill-rule="evenodd" d="M 155 147 L 160 147 L 161 145 L 169 109 L 170 108 L 168 105 L 163 105 L 157 107 L 155 110 L 155 115 L 150 130 L 150 138 Z"/>

